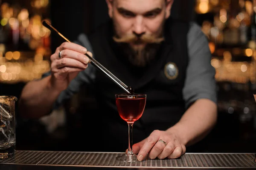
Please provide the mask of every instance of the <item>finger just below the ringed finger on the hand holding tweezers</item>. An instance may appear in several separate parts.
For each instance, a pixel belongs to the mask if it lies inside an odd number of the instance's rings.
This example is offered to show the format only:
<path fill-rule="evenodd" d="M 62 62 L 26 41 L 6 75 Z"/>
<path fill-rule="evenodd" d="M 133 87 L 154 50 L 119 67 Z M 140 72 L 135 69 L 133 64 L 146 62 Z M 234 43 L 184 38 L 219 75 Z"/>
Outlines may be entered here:
<path fill-rule="evenodd" d="M 56 62 L 56 68 L 60 69 L 62 67 L 74 67 L 79 69 L 86 69 L 88 64 L 81 63 L 78 60 L 75 60 L 73 58 L 61 58 Z"/>

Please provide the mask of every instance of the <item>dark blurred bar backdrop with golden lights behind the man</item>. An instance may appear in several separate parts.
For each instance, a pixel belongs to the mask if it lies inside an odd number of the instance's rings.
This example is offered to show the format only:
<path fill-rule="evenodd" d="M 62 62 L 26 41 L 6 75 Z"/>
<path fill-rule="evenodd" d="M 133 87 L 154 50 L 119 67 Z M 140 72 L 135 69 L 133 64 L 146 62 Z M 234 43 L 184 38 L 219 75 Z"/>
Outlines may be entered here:
<path fill-rule="evenodd" d="M 0 95 L 17 98 L 28 81 L 49 71 L 50 55 L 64 42 L 42 20 L 70 40 L 108 20 L 105 0 L 0 0 L 0 8 Z M 176 0 L 172 7 L 172 17 L 201 26 L 216 69 L 218 123 L 193 152 L 256 152 L 255 13 L 252 0 Z M 16 109 L 17 150 L 90 151 L 82 114 L 95 107 L 90 95 L 84 88 L 40 120 L 20 118 Z"/>

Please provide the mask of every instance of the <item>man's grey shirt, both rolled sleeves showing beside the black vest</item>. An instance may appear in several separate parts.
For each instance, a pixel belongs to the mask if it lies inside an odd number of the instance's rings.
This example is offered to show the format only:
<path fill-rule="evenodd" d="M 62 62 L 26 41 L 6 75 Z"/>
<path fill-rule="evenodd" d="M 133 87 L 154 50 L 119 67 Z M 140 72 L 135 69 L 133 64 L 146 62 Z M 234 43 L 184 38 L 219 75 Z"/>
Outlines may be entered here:
<path fill-rule="evenodd" d="M 82 43 L 82 46 L 87 48 L 87 51 L 93 53 L 90 42 L 85 34 L 79 35 L 78 40 Z M 187 40 L 189 63 L 183 87 L 183 99 L 186 107 L 200 98 L 207 98 L 217 103 L 215 69 L 211 65 L 212 55 L 209 50 L 208 40 L 201 31 L 201 27 L 194 22 L 190 23 Z M 96 68 L 89 64 L 87 69 L 80 72 L 70 82 L 68 88 L 61 92 L 55 102 L 54 108 L 60 106 L 64 100 L 70 98 L 74 93 L 79 92 L 82 84 L 93 83 L 95 72 Z M 48 72 L 44 76 L 49 74 Z"/>

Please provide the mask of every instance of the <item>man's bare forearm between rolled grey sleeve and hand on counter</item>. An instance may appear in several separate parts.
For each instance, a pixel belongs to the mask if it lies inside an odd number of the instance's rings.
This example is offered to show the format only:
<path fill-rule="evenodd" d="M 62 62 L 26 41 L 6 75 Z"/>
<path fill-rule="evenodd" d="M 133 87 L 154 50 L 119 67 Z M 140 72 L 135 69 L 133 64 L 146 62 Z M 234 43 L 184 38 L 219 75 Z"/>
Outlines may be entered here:
<path fill-rule="evenodd" d="M 217 106 L 209 99 L 199 99 L 189 107 L 180 121 L 167 131 L 176 133 L 185 146 L 204 138 L 217 121 Z"/>

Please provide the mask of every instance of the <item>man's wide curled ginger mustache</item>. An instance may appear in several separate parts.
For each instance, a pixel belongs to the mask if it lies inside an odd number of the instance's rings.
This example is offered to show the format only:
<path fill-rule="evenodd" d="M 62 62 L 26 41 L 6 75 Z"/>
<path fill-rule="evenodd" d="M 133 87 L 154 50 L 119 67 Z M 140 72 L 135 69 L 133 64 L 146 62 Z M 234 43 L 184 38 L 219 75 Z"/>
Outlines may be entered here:
<path fill-rule="evenodd" d="M 142 35 L 140 37 L 131 34 L 124 37 L 113 37 L 113 40 L 117 43 L 161 43 L 164 40 L 164 37 L 153 37 L 151 35 Z"/>

